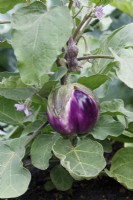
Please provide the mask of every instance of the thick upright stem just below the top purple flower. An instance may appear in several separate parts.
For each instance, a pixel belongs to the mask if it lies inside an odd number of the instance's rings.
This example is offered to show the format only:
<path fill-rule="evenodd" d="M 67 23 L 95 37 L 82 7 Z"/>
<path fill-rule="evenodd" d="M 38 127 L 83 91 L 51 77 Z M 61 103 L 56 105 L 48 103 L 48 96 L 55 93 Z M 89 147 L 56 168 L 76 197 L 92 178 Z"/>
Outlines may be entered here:
<path fill-rule="evenodd" d="M 82 28 L 82 26 L 86 23 L 86 21 L 88 21 L 90 19 L 92 15 L 92 11 L 90 11 L 89 14 L 86 14 L 83 18 L 83 20 L 81 21 L 81 23 L 78 25 L 77 29 L 75 30 L 75 32 L 73 33 L 73 39 L 76 40 L 79 32 L 80 32 L 80 29 Z"/>

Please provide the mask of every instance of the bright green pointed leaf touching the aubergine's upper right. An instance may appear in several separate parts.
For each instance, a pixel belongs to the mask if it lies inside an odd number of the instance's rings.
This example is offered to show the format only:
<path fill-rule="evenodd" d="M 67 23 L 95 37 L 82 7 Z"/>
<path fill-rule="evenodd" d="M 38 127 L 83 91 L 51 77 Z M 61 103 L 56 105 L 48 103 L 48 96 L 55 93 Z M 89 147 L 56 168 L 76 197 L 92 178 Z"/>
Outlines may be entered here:
<path fill-rule="evenodd" d="M 109 80 L 108 76 L 102 74 L 95 74 L 93 76 L 79 78 L 78 83 L 81 83 L 86 87 L 94 90 L 100 87 L 107 80 Z"/>

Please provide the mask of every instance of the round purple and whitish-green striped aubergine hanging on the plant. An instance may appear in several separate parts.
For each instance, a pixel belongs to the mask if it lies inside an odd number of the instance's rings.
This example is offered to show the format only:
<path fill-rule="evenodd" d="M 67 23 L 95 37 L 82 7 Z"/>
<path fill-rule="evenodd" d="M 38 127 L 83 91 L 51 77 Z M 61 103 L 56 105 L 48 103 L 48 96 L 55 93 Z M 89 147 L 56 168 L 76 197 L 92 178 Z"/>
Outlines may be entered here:
<path fill-rule="evenodd" d="M 94 127 L 98 115 L 96 98 L 81 84 L 62 85 L 48 97 L 48 121 L 62 135 L 86 133 Z"/>

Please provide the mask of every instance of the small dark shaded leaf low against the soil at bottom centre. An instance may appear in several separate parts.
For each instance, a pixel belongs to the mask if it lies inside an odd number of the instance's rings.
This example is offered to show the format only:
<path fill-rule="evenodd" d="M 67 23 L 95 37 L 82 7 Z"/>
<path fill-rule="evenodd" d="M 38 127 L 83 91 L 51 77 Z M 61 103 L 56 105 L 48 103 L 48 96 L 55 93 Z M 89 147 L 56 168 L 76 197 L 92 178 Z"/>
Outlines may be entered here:
<path fill-rule="evenodd" d="M 61 165 L 55 166 L 50 171 L 50 178 L 60 191 L 66 191 L 72 187 L 73 179 Z"/>

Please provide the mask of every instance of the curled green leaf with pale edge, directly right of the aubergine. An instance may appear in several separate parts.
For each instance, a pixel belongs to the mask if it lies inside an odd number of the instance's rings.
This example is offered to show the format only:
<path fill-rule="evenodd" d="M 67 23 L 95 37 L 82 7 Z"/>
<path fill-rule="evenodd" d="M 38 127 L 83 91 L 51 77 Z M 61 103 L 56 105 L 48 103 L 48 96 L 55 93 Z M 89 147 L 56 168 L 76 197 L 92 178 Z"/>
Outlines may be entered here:
<path fill-rule="evenodd" d="M 123 115 L 133 118 L 133 112 L 128 111 L 124 107 L 124 102 L 121 99 L 114 99 L 112 101 L 103 101 L 101 103 L 101 113 L 109 115 Z"/>

